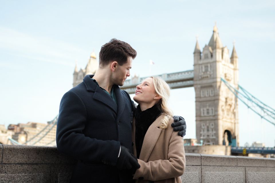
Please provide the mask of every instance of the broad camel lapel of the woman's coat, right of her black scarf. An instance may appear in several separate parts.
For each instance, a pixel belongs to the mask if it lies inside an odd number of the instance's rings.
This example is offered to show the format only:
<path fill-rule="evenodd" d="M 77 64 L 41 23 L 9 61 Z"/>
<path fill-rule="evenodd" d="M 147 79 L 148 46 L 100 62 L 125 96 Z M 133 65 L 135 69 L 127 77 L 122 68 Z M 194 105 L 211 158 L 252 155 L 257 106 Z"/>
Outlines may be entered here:
<path fill-rule="evenodd" d="M 140 159 L 147 162 L 150 154 L 160 136 L 160 133 L 162 131 L 162 129 L 158 128 L 160 125 L 160 120 L 163 118 L 163 114 L 160 115 L 148 128 L 144 140 L 143 140 L 143 144 L 142 144 L 142 148 L 141 148 L 141 152 L 140 152 Z"/>

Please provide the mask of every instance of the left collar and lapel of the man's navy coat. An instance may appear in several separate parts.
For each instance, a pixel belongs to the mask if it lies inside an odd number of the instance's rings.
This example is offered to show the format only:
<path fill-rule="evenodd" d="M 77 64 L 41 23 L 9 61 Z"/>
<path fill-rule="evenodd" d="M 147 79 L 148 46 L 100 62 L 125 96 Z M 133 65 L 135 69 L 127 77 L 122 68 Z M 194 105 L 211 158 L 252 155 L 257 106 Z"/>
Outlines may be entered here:
<path fill-rule="evenodd" d="M 83 79 L 88 91 L 95 92 L 93 99 L 102 102 L 106 106 L 110 107 L 115 113 L 117 113 L 117 104 L 103 89 L 99 87 L 91 78 L 94 75 L 86 75 Z"/>

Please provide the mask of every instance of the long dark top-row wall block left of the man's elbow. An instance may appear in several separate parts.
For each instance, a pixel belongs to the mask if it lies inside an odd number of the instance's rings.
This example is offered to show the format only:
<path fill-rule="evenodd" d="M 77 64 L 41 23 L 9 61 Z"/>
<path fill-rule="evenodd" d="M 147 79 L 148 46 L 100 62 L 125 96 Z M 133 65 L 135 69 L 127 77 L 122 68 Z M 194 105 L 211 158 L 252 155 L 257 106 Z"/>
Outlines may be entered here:
<path fill-rule="evenodd" d="M 56 147 L 3 145 L 3 164 L 75 164 Z"/>

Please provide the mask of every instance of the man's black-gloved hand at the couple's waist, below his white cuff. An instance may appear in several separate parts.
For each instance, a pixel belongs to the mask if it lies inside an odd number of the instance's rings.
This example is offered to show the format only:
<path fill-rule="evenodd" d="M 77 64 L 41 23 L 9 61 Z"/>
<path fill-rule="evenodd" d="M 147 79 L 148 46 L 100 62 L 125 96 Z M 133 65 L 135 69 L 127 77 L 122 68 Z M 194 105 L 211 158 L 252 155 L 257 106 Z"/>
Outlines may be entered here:
<path fill-rule="evenodd" d="M 123 170 L 123 169 L 138 169 L 140 168 L 140 164 L 138 164 L 137 159 L 134 158 L 134 155 L 130 153 L 129 149 L 120 146 L 121 147 L 121 151 L 119 154 L 119 157 L 117 158 L 117 164 L 116 167 L 119 170 Z"/>

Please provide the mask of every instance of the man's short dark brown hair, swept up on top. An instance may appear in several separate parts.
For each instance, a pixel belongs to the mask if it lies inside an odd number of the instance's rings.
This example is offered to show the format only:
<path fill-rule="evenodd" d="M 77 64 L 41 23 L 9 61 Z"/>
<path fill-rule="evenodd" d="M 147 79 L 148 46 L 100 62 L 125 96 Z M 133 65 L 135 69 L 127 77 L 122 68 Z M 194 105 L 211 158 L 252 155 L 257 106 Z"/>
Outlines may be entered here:
<path fill-rule="evenodd" d="M 101 46 L 99 66 L 105 66 L 110 61 L 117 61 L 119 65 L 123 65 L 127 62 L 129 56 L 134 59 L 137 56 L 137 52 L 128 43 L 114 38 Z"/>

